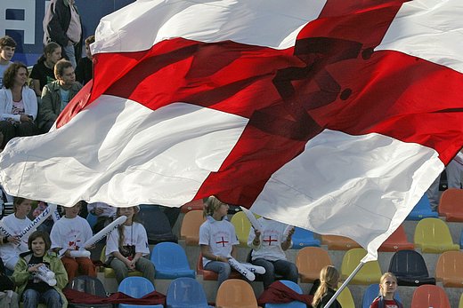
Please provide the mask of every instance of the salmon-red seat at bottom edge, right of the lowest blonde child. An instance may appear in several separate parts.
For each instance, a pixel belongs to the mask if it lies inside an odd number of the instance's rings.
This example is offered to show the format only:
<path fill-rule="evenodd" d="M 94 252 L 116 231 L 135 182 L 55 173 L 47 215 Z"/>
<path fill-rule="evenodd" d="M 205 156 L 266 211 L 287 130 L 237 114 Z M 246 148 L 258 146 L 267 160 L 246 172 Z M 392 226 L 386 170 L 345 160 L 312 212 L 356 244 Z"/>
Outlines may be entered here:
<path fill-rule="evenodd" d="M 443 288 L 425 284 L 416 288 L 411 298 L 411 308 L 423 307 L 451 308 L 451 304 Z"/>

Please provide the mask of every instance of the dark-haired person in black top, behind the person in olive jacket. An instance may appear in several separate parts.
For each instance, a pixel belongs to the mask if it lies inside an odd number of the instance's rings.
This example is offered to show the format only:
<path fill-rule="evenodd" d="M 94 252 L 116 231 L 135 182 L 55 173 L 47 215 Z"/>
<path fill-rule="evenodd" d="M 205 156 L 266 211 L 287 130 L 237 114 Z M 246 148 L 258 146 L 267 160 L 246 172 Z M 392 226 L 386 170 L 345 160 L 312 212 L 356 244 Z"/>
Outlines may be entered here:
<path fill-rule="evenodd" d="M 45 84 L 55 81 L 53 67 L 61 59 L 61 46 L 50 42 L 45 45 L 44 54 L 37 60 L 30 73 L 32 89 L 38 99 L 42 97 L 42 89 Z"/>

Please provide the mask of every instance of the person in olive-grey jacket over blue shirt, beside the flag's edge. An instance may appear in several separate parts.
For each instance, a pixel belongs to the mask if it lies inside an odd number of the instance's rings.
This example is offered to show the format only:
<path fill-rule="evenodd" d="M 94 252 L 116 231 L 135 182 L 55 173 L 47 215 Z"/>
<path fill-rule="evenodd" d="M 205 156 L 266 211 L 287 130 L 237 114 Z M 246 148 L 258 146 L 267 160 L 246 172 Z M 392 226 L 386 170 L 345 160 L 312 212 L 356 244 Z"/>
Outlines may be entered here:
<path fill-rule="evenodd" d="M 71 99 L 82 89 L 76 82 L 74 68 L 66 59 L 61 59 L 54 66 L 56 81 L 48 83 L 42 90 L 42 105 L 38 114 L 38 128 L 47 132 Z"/>

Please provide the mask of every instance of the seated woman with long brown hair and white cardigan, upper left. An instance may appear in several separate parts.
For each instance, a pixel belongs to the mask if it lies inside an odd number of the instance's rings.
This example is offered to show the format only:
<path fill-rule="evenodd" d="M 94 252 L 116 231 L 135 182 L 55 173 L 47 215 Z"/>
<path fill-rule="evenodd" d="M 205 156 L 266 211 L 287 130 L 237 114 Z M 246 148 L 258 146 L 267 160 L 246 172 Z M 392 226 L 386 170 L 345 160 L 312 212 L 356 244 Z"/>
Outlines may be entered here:
<path fill-rule="evenodd" d="M 37 98 L 26 85 L 28 67 L 13 63 L 4 72 L 4 89 L 0 90 L 0 131 L 2 148 L 14 137 L 37 135 Z"/>

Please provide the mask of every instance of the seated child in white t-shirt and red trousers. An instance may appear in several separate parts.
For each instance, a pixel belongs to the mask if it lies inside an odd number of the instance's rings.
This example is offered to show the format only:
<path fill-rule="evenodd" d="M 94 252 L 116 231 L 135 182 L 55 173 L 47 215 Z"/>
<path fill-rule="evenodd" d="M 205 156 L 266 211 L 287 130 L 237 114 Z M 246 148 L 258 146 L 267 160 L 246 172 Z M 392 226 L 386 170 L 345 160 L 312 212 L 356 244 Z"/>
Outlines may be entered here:
<path fill-rule="evenodd" d="M 50 233 L 52 249 L 56 252 L 61 251 L 61 262 L 68 272 L 69 281 L 78 274 L 96 277 L 95 266 L 90 258 L 71 257 L 70 254 L 71 250 L 78 250 L 93 236 L 88 222 L 78 216 L 80 207 L 80 202 L 73 207 L 65 207 L 65 215 L 54 223 L 52 233 Z M 61 249 L 65 250 L 64 253 Z"/>

